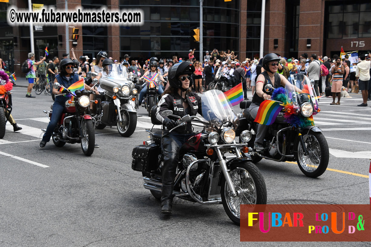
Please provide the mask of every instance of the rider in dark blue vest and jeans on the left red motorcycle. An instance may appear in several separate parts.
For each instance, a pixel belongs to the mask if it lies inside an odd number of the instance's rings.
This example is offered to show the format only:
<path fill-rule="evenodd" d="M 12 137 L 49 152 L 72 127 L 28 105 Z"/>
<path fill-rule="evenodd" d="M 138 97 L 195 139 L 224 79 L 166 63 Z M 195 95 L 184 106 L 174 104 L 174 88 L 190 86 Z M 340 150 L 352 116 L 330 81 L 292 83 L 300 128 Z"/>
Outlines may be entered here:
<path fill-rule="evenodd" d="M 81 80 L 81 77 L 79 77 L 78 74 L 75 74 L 73 72 L 73 61 L 71 59 L 63 59 L 60 62 L 60 73 L 55 76 L 54 83 L 58 82 L 61 86 L 68 88 L 73 83 Z M 98 91 L 95 89 L 92 89 L 90 86 L 85 85 L 86 90 L 92 90 L 95 91 L 95 93 L 99 94 Z M 58 91 L 53 87 L 53 94 L 58 95 L 62 94 L 63 92 Z M 55 97 L 55 101 L 53 104 L 53 114 L 52 117 L 50 117 L 50 122 L 46 128 L 45 134 L 39 144 L 40 148 L 44 148 L 46 143 L 50 141 L 50 137 L 52 137 L 54 128 L 57 126 L 57 123 L 60 119 L 60 116 L 62 116 L 62 113 L 65 109 L 65 103 L 66 100 L 68 100 L 68 97 L 66 96 L 58 96 Z M 96 147 L 99 147 L 96 145 Z"/>

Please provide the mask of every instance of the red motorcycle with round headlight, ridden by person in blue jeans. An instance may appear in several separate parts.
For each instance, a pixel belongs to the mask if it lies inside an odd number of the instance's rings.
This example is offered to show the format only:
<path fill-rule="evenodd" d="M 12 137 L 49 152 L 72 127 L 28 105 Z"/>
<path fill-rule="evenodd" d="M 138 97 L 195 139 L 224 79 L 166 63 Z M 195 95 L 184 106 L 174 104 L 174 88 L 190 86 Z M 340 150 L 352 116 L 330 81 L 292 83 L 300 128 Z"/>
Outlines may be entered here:
<path fill-rule="evenodd" d="M 53 87 L 59 89 L 59 83 L 54 83 Z M 58 94 L 56 97 L 73 94 L 66 89 L 66 93 Z M 90 105 L 89 94 L 94 93 L 86 89 L 76 90 L 73 99 L 67 99 L 65 103 L 65 111 L 63 112 L 59 123 L 54 129 L 52 140 L 55 146 L 63 147 L 66 143 L 74 144 L 81 143 L 81 148 L 86 156 L 91 156 L 94 152 L 95 120 L 91 115 L 87 114 Z M 92 101 L 95 102 L 95 101 Z M 50 107 L 53 110 L 53 106 Z M 43 111 L 49 118 L 52 117 L 53 111 Z M 42 129 L 43 132 L 46 129 Z"/>

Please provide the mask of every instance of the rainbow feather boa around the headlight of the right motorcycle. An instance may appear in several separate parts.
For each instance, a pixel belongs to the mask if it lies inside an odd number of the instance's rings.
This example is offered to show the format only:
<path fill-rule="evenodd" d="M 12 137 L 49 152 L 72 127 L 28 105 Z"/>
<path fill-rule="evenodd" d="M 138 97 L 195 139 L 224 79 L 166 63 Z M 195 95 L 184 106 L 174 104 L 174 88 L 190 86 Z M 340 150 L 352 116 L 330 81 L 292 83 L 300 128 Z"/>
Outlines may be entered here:
<path fill-rule="evenodd" d="M 306 86 L 306 85 L 305 85 Z M 303 93 L 308 93 L 308 88 L 304 88 Z M 295 114 L 297 110 L 299 110 L 298 106 L 293 106 L 289 103 L 289 100 L 286 96 L 286 90 L 283 87 L 279 87 L 278 89 L 275 89 L 272 93 L 272 99 L 276 101 L 283 102 L 283 111 L 284 111 L 284 117 L 286 123 L 289 123 L 293 127 L 301 127 L 304 128 L 306 126 L 314 126 L 314 120 L 313 116 L 310 117 L 303 117 L 301 114 Z M 315 107 L 315 110 L 313 112 L 314 114 L 317 114 L 318 106 Z M 299 110 L 300 111 L 300 110 Z"/>

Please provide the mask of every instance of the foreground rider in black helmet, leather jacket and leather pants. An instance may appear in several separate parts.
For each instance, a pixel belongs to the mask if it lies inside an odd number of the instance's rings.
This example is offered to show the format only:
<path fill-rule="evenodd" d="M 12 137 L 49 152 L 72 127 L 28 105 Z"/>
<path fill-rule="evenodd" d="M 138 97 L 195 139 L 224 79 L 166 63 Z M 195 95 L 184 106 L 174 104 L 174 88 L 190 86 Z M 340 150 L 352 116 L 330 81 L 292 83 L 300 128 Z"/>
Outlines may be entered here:
<path fill-rule="evenodd" d="M 164 153 L 164 166 L 162 167 L 162 189 L 161 189 L 161 213 L 171 214 L 173 202 L 173 189 L 175 171 L 178 166 L 179 150 L 189 137 L 193 135 L 192 124 L 176 128 L 169 133 L 169 130 L 177 126 L 175 117 L 163 117 L 161 112 L 172 110 L 174 115 L 183 117 L 187 114 L 195 116 L 202 115 L 201 98 L 197 93 L 191 92 L 191 74 L 195 71 L 192 63 L 184 61 L 177 63 L 170 68 L 168 74 L 169 88 L 164 92 L 158 108 L 156 117 L 166 129 L 162 131 L 161 148 Z"/>

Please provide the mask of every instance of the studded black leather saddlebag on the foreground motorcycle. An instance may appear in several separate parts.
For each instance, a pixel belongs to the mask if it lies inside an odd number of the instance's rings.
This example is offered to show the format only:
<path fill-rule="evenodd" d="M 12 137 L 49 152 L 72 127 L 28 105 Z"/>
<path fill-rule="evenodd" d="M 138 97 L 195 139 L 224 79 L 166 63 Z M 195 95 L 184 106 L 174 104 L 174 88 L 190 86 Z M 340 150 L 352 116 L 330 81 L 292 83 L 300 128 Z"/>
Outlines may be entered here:
<path fill-rule="evenodd" d="M 161 146 L 152 143 L 150 146 L 138 145 L 133 148 L 131 168 L 134 171 L 154 171 L 158 168 L 158 156 Z"/>

